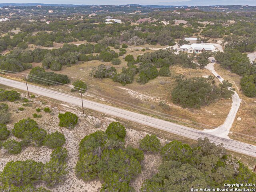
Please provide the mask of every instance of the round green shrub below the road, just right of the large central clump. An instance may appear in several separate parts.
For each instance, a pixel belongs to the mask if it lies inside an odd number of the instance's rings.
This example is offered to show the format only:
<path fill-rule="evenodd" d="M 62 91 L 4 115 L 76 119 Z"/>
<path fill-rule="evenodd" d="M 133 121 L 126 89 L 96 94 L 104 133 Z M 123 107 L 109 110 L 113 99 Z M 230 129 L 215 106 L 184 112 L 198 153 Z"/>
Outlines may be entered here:
<path fill-rule="evenodd" d="M 161 143 L 155 135 L 149 136 L 147 134 L 142 140 L 140 140 L 140 148 L 143 151 L 157 152 L 161 148 Z"/>

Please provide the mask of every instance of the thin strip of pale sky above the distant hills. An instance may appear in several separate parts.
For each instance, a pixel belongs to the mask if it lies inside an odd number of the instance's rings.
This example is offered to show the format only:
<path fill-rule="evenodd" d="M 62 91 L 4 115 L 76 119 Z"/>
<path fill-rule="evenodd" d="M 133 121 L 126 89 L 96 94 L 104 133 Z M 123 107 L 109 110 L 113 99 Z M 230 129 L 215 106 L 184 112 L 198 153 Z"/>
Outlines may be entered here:
<path fill-rule="evenodd" d="M 87 4 L 87 5 L 251 5 L 256 0 L 0 0 L 0 3 L 44 3 L 44 4 Z"/>

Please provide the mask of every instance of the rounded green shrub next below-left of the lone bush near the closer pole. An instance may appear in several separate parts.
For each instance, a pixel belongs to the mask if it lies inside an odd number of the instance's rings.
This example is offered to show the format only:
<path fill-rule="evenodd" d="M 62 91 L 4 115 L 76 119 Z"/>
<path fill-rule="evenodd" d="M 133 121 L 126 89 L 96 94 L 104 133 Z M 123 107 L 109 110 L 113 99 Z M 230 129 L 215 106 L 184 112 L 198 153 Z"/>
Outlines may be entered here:
<path fill-rule="evenodd" d="M 57 148 L 64 145 L 65 142 L 65 136 L 62 133 L 56 131 L 52 134 L 47 134 L 44 138 L 43 144 L 50 148 Z"/>

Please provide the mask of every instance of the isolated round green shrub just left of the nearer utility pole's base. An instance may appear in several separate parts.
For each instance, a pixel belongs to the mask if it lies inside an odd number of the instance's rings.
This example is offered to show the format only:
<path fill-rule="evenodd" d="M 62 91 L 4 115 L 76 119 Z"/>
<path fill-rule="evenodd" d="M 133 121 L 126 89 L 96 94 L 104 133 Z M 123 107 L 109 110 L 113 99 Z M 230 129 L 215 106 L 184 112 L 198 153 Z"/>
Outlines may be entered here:
<path fill-rule="evenodd" d="M 78 121 L 78 117 L 76 116 L 76 114 L 73 114 L 71 112 L 66 112 L 64 114 L 60 113 L 58 117 L 60 119 L 60 127 L 74 128 Z"/>

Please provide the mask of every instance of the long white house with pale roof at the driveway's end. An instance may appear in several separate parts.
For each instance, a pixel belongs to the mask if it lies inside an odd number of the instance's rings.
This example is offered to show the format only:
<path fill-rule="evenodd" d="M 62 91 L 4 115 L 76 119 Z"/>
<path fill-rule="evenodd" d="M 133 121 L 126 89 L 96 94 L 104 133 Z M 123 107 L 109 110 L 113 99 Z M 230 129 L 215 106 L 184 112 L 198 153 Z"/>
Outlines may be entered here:
<path fill-rule="evenodd" d="M 204 51 L 210 51 L 210 52 L 218 52 L 219 50 L 211 45 L 211 44 L 198 44 L 193 43 L 191 45 L 182 45 L 180 46 L 181 51 L 186 51 L 188 53 L 202 53 Z"/>

